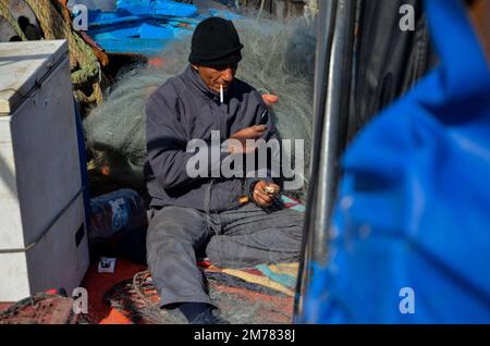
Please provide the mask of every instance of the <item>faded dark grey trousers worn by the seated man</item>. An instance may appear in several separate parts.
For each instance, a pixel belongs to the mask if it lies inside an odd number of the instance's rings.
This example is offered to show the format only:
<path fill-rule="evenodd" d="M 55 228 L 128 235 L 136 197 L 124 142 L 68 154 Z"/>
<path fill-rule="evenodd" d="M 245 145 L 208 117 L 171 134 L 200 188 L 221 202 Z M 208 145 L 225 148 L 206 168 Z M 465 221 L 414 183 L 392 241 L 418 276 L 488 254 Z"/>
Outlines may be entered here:
<path fill-rule="evenodd" d="M 267 213 L 254 203 L 210 213 L 164 207 L 155 211 L 147 234 L 147 261 L 161 307 L 206 302 L 209 298 L 196 251 L 206 249 L 211 263 L 250 268 L 299 260 L 303 213 L 281 209 Z"/>

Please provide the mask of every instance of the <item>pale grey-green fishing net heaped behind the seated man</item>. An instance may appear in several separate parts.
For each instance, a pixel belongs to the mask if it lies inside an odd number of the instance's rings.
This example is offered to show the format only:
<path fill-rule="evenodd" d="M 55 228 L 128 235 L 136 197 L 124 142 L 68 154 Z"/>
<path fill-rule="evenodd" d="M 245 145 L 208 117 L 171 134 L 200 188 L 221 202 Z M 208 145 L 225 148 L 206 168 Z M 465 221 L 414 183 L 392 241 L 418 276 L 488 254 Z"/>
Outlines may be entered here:
<path fill-rule="evenodd" d="M 264 18 L 235 21 L 245 46 L 237 77 L 264 94 L 274 94 L 275 123 L 283 139 L 305 141 L 305 172 L 311 143 L 315 24 L 305 18 L 272 22 Z M 163 51 L 160 67 L 138 65 L 121 73 L 105 102 L 85 120 L 88 148 L 96 165 L 132 186 L 144 185 L 146 159 L 145 102 L 169 77 L 184 71 L 191 33 Z M 305 177 L 306 178 L 306 177 Z M 139 189 L 138 189 L 139 190 Z"/>

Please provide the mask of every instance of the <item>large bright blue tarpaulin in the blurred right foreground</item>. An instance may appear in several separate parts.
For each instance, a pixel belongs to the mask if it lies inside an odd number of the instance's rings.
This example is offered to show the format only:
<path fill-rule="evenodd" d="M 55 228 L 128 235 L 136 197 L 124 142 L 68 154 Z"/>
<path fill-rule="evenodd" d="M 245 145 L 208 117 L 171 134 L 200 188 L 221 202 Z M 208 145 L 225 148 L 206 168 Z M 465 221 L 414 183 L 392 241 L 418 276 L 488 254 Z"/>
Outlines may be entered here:
<path fill-rule="evenodd" d="M 428 0 L 441 62 L 344 160 L 308 323 L 490 323 L 490 71 L 462 0 Z"/>

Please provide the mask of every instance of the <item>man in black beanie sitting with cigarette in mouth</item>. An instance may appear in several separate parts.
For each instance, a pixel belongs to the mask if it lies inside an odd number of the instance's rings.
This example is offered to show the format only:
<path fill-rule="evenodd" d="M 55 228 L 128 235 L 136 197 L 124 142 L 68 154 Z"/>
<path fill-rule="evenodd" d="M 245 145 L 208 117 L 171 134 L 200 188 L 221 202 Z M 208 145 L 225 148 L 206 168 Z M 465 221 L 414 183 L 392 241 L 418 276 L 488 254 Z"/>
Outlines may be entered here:
<path fill-rule="evenodd" d="M 212 313 L 216 306 L 196 267 L 196 251 L 206 249 L 212 263 L 229 268 L 292 262 L 301 255 L 302 214 L 278 207 L 280 186 L 270 171 L 255 177 L 209 177 L 231 155 L 254 153 L 247 139 L 277 138 L 259 92 L 235 78 L 242 49 L 231 21 L 205 20 L 193 36 L 191 64 L 146 106 L 146 174 L 152 198 L 148 265 L 161 307 L 179 308 L 191 323 L 225 322 Z M 218 147 L 212 132 L 219 132 Z M 193 139 L 211 143 L 206 157 L 212 162 L 199 168 L 204 174 L 197 178 L 188 174 L 196 155 L 186 148 Z M 222 150 L 226 139 L 235 140 Z"/>

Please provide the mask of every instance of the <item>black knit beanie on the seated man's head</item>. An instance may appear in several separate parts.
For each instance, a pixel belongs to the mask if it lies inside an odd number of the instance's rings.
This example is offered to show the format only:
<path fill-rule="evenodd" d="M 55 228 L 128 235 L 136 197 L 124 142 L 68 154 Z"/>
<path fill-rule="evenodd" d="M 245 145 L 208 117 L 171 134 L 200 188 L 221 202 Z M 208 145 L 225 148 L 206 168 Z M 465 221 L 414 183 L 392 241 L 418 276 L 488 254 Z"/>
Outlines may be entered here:
<path fill-rule="evenodd" d="M 188 61 L 196 65 L 226 65 L 242 60 L 243 45 L 232 21 L 212 16 L 194 30 Z"/>

